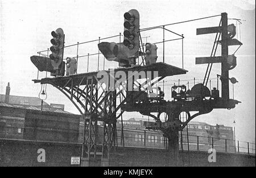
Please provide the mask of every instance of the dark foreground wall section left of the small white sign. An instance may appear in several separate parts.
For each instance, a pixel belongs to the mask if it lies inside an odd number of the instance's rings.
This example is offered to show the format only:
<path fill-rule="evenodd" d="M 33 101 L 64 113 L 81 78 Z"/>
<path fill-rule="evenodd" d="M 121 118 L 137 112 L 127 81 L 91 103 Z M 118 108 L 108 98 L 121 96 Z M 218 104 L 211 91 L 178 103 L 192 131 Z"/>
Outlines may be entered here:
<path fill-rule="evenodd" d="M 46 162 L 38 162 L 38 150 Z M 71 156 L 80 156 L 81 144 L 0 139 L 0 166 L 70 166 Z"/>

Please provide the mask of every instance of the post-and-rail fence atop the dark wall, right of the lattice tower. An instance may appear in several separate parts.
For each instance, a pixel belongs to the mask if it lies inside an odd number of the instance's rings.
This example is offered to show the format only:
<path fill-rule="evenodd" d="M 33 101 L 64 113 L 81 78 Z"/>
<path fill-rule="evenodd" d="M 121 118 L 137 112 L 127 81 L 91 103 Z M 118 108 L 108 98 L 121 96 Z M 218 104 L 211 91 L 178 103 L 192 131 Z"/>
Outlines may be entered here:
<path fill-rule="evenodd" d="M 168 148 L 168 140 L 156 131 L 124 129 L 123 139 L 121 129 L 117 129 L 117 146 Z M 179 134 L 179 150 L 208 151 L 214 148 L 217 152 L 255 155 L 255 143 L 239 140 L 214 138 L 209 136 Z"/>

